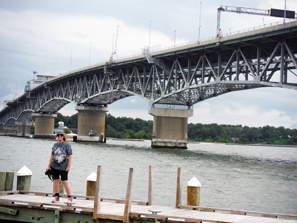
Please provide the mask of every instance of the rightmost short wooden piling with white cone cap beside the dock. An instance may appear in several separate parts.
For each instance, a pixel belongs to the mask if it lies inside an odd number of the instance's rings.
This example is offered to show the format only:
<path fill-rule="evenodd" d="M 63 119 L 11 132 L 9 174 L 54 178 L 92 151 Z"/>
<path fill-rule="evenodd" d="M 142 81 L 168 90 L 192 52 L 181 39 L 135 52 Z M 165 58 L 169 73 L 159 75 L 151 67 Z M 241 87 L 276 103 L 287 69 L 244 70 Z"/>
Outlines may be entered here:
<path fill-rule="evenodd" d="M 200 187 L 201 183 L 195 176 L 187 183 L 187 205 L 200 206 Z"/>

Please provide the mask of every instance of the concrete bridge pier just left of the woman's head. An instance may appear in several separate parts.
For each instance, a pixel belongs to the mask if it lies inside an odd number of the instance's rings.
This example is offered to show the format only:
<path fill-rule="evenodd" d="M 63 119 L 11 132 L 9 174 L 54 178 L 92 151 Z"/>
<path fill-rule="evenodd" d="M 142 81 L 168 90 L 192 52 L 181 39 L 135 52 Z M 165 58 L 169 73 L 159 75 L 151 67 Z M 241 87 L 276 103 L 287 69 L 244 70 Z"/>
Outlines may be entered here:
<path fill-rule="evenodd" d="M 57 114 L 33 113 L 35 134 L 33 138 L 55 138 L 53 134 L 54 118 Z"/>

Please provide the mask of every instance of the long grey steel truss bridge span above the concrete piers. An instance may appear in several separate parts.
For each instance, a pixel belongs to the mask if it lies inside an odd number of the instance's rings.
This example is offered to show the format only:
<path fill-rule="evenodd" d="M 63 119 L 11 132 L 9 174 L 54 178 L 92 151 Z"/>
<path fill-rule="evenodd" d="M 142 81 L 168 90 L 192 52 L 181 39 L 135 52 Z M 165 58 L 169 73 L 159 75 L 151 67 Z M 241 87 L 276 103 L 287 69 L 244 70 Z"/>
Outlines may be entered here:
<path fill-rule="evenodd" d="M 0 111 L 0 124 L 32 121 L 68 103 L 107 106 L 139 96 L 152 106 L 185 109 L 232 91 L 297 90 L 297 21 L 249 29 L 184 46 L 71 71 L 27 89 Z"/>

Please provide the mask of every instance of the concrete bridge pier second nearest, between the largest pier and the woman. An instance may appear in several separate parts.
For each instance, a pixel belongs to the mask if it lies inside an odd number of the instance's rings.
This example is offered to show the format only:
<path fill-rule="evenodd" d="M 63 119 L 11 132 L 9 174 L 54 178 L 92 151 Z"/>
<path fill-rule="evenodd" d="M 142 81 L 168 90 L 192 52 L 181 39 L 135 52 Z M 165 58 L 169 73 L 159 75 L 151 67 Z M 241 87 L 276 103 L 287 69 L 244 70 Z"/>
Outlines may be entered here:
<path fill-rule="evenodd" d="M 105 131 L 105 113 L 103 106 L 75 106 L 78 111 L 77 141 L 99 141 Z"/>

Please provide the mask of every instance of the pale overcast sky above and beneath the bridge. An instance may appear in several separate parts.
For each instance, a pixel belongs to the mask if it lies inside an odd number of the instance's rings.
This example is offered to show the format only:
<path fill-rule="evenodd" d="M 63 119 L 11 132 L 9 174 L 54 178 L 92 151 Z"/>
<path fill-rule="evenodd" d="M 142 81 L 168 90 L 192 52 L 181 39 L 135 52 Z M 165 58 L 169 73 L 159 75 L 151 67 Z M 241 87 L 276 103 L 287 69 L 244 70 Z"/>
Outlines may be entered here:
<path fill-rule="evenodd" d="M 216 35 L 219 5 L 257 9 L 285 8 L 285 0 L 0 0 L 0 109 L 4 100 L 24 92 L 33 71 L 56 76 L 109 59 L 119 25 L 114 58 L 140 54 L 150 46 L 170 47 Z M 297 11 L 297 0 L 287 0 Z M 221 29 L 229 33 L 281 21 L 281 18 L 221 13 Z M 91 48 L 91 51 L 90 51 Z M 71 53 L 72 52 L 72 53 Z M 72 56 L 72 57 L 71 57 Z M 294 70 L 295 73 L 296 70 Z M 297 80 L 294 80 L 297 83 Z M 16 88 L 17 85 L 17 88 Z M 76 113 L 74 104 L 59 112 Z M 152 120 L 148 102 L 128 97 L 109 107 L 113 116 Z M 297 128 L 297 91 L 261 88 L 231 92 L 194 106 L 188 123 L 242 124 Z"/>

